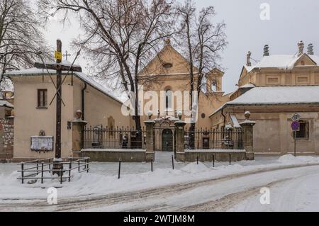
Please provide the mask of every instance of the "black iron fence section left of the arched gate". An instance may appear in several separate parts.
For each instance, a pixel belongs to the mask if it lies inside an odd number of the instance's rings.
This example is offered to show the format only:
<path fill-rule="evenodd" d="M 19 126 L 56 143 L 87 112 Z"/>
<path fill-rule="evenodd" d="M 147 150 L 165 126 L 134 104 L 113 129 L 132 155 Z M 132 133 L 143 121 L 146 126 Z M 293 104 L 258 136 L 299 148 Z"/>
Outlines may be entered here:
<path fill-rule="evenodd" d="M 142 128 L 142 139 L 134 128 L 103 128 L 89 126 L 84 128 L 84 149 L 145 149 L 146 132 Z"/>

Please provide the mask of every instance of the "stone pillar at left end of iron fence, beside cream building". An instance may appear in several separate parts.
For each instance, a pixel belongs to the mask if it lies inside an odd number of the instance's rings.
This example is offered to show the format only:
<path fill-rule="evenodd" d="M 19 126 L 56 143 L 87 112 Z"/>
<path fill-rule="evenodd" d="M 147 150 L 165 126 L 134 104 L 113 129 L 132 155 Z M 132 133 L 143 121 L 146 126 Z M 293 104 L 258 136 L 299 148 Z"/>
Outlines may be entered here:
<path fill-rule="evenodd" d="M 84 142 L 84 126 L 87 124 L 84 120 L 73 120 L 72 122 L 72 152 L 73 157 L 81 157 L 81 149 Z"/>

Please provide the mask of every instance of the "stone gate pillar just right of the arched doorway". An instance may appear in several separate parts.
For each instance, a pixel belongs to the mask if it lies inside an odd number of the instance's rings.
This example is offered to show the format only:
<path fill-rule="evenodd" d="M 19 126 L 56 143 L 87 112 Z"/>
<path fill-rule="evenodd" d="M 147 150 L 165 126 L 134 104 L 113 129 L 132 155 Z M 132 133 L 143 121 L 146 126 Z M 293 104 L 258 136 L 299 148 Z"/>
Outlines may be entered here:
<path fill-rule="evenodd" d="M 182 120 L 175 122 L 175 133 L 176 133 L 176 148 L 175 148 L 175 159 L 177 161 L 185 162 L 185 125 L 186 123 Z"/>

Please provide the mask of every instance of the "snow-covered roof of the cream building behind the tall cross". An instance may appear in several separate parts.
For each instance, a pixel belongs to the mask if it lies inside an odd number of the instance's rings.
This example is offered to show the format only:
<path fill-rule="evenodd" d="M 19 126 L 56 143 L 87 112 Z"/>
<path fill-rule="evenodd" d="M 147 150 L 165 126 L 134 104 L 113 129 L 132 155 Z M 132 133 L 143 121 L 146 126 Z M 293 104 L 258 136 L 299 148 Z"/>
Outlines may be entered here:
<path fill-rule="evenodd" d="M 69 62 L 62 62 L 62 63 L 64 65 L 69 64 Z M 69 65 L 71 65 L 71 64 L 69 64 Z M 49 69 L 48 71 L 50 74 L 56 73 L 55 70 Z M 6 74 L 4 74 L 4 76 L 6 76 L 6 77 L 31 76 L 31 75 L 41 75 L 42 76 L 43 74 L 45 74 L 45 75 L 48 74 L 46 69 L 38 69 L 38 68 L 33 67 L 30 69 L 23 69 L 20 71 L 6 72 Z M 63 71 L 62 74 L 67 74 L 67 71 Z M 71 73 L 69 73 L 69 74 L 71 74 Z M 106 96 L 113 98 L 115 101 L 118 101 L 119 103 L 123 103 L 123 101 L 121 101 L 119 98 L 110 94 L 110 91 L 106 88 L 106 86 L 99 84 L 99 82 L 95 81 L 94 79 L 92 79 L 88 75 L 86 75 L 82 72 L 73 72 L 73 74 L 75 75 L 75 77 L 79 78 L 82 81 L 85 81 L 87 84 L 92 86 L 94 89 L 101 91 Z"/>

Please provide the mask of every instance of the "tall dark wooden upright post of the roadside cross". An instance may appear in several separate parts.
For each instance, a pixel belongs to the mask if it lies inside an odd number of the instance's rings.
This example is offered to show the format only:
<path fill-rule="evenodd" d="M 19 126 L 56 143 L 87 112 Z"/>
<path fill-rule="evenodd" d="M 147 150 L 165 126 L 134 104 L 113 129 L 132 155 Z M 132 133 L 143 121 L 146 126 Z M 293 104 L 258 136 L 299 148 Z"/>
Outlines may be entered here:
<path fill-rule="evenodd" d="M 62 52 L 62 42 L 57 40 L 57 52 Z M 57 59 L 57 64 L 61 60 Z M 56 141 L 55 141 L 55 155 L 57 159 L 61 158 L 61 114 L 62 114 L 62 70 L 57 68 L 57 107 L 56 107 Z M 61 181 L 62 182 L 62 181 Z"/>

